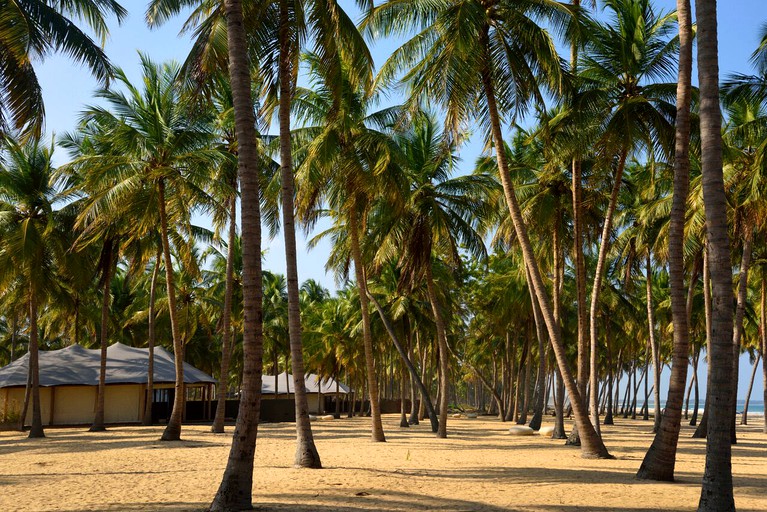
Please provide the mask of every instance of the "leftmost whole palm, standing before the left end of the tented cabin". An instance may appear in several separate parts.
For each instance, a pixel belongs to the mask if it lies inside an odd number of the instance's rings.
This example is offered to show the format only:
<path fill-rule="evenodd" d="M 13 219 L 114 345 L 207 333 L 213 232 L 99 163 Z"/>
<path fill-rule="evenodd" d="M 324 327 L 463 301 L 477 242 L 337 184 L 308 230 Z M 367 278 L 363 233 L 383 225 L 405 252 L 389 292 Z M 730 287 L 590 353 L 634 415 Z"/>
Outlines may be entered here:
<path fill-rule="evenodd" d="M 0 287 L 12 289 L 19 280 L 29 319 L 29 376 L 32 397 L 32 428 L 29 437 L 45 437 L 40 405 L 38 363 L 41 306 L 59 286 L 57 264 L 68 249 L 65 233 L 71 226 L 62 212 L 54 185 L 52 148 L 33 139 L 24 145 L 2 141 L 4 162 L 0 167 Z M 6 288 L 7 287 L 7 288 Z M 22 418 L 22 422 L 24 418 Z M 22 423 L 23 424 L 23 423 Z"/>

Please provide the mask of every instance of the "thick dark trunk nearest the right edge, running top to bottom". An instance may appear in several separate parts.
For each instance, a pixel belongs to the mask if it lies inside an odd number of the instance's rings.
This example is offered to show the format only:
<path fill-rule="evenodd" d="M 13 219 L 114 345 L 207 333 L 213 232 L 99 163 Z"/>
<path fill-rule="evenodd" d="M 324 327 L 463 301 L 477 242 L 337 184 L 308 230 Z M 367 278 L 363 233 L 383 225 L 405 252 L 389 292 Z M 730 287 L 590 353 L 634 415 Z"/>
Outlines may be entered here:
<path fill-rule="evenodd" d="M 732 492 L 732 264 L 722 175 L 722 114 L 716 0 L 696 0 L 703 204 L 711 271 L 711 387 L 706 469 L 698 510 L 735 510 Z"/>

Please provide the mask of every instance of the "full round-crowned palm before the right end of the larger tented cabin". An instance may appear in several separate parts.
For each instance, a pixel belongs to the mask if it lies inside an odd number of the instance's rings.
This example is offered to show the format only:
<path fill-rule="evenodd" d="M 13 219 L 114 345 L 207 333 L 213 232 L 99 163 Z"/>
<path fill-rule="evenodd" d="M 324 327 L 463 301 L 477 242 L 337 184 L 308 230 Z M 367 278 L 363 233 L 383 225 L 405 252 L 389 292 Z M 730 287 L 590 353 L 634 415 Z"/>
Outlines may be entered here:
<path fill-rule="evenodd" d="M 183 340 L 170 234 L 174 225 L 179 231 L 192 231 L 191 212 L 209 201 L 203 186 L 221 155 L 210 149 L 208 120 L 190 117 L 191 105 L 179 93 L 178 66 L 157 65 L 143 55 L 141 65 L 144 90 L 118 69 L 117 80 L 127 93 L 112 88 L 98 91 L 106 106 L 89 107 L 82 119 L 97 140 L 93 147 L 98 151 L 83 154 L 71 165 L 85 174 L 90 194 L 84 218 L 98 219 L 106 211 L 112 218 L 137 219 L 132 225 L 134 238 L 149 236 L 159 223 L 176 365 L 173 411 L 163 440 L 177 440 L 184 407 Z M 148 204 L 155 208 L 147 208 Z"/>

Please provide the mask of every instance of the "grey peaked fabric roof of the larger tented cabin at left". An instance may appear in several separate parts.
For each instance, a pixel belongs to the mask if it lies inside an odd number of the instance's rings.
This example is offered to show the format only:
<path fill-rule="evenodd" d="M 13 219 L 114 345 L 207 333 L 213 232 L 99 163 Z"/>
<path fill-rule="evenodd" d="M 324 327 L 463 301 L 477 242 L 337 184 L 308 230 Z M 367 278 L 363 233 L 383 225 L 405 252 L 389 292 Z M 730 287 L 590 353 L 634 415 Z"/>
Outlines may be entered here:
<path fill-rule="evenodd" d="M 29 354 L 0 368 L 0 388 L 26 386 Z M 40 351 L 41 386 L 98 386 L 101 350 L 71 345 L 60 350 Z M 149 349 L 115 343 L 107 347 L 107 384 L 143 384 L 147 381 Z M 154 382 L 176 381 L 173 354 L 154 349 Z M 186 384 L 215 383 L 210 375 L 184 363 Z"/>

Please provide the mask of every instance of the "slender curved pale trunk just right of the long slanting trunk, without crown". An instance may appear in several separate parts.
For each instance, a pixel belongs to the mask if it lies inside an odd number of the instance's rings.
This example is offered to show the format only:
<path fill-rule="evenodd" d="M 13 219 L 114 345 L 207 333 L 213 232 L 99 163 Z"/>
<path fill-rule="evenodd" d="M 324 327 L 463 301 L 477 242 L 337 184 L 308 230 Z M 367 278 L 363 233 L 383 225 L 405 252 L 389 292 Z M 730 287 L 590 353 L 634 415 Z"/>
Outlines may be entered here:
<path fill-rule="evenodd" d="M 591 422 L 597 435 L 601 435 L 599 430 L 599 401 L 598 389 L 596 383 L 599 381 L 599 340 L 597 338 L 597 313 L 599 311 L 599 292 L 602 289 L 602 279 L 605 273 L 605 262 L 607 261 L 607 249 L 610 247 L 610 234 L 613 228 L 613 217 L 615 209 L 618 206 L 618 194 L 620 193 L 621 180 L 623 179 L 623 169 L 626 167 L 626 157 L 628 150 L 623 149 L 618 160 L 618 167 L 615 169 L 613 177 L 613 190 L 610 194 L 610 202 L 607 205 L 605 213 L 605 224 L 602 226 L 602 242 L 599 244 L 599 256 L 597 258 L 597 268 L 594 271 L 594 285 L 591 289 L 591 305 L 589 308 L 589 339 L 590 339 L 590 375 L 592 382 L 591 393 L 589 395 L 589 408 L 591 410 Z"/>

